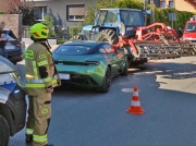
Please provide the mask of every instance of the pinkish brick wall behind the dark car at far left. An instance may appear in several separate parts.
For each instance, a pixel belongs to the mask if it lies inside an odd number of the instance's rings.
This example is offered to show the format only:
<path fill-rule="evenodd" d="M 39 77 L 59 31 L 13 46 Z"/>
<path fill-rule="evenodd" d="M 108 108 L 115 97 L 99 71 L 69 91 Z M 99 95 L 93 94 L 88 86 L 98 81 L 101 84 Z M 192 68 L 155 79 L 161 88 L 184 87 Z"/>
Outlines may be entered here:
<path fill-rule="evenodd" d="M 0 22 L 5 23 L 5 28 L 13 31 L 15 36 L 22 40 L 22 15 L 20 14 L 0 14 Z"/>

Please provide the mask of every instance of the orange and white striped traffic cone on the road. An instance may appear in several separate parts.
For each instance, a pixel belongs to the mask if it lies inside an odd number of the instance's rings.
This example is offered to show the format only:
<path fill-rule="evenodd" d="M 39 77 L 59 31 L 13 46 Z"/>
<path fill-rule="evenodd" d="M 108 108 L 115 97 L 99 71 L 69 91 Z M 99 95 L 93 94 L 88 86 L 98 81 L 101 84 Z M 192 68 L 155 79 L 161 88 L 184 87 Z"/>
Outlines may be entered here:
<path fill-rule="evenodd" d="M 145 110 L 140 107 L 138 89 L 134 87 L 131 107 L 126 110 L 127 113 L 142 114 Z"/>

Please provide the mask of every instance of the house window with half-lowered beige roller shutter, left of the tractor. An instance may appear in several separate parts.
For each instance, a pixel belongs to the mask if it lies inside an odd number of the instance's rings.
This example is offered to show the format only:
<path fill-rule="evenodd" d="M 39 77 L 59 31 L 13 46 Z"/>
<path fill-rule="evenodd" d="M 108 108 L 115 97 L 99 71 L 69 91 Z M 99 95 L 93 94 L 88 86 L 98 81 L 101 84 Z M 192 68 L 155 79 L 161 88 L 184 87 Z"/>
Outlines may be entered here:
<path fill-rule="evenodd" d="M 66 5 L 66 19 L 68 21 L 84 21 L 84 4 Z"/>

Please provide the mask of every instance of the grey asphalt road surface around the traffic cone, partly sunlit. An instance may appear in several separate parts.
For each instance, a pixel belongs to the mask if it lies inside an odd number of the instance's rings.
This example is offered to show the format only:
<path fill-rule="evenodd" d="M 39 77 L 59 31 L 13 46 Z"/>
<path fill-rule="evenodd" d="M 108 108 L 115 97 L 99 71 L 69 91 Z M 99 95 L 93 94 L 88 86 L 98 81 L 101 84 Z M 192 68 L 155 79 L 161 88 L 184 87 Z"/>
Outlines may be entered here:
<path fill-rule="evenodd" d="M 23 74 L 23 62 L 17 64 Z M 23 74 L 24 75 L 24 74 Z M 126 113 L 137 86 L 144 114 Z M 49 142 L 56 146 L 196 146 L 196 57 L 148 62 L 112 80 L 108 94 L 54 90 Z M 25 131 L 10 146 L 25 146 Z"/>

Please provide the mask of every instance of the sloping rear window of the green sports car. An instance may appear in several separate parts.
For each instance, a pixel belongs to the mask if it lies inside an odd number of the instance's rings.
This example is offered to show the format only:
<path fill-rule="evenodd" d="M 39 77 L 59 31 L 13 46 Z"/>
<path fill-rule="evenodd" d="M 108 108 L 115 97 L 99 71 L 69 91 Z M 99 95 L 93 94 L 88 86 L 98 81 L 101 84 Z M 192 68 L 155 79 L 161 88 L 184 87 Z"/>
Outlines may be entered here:
<path fill-rule="evenodd" d="M 86 45 L 62 45 L 57 50 L 58 54 L 82 56 L 87 54 L 94 47 Z"/>

